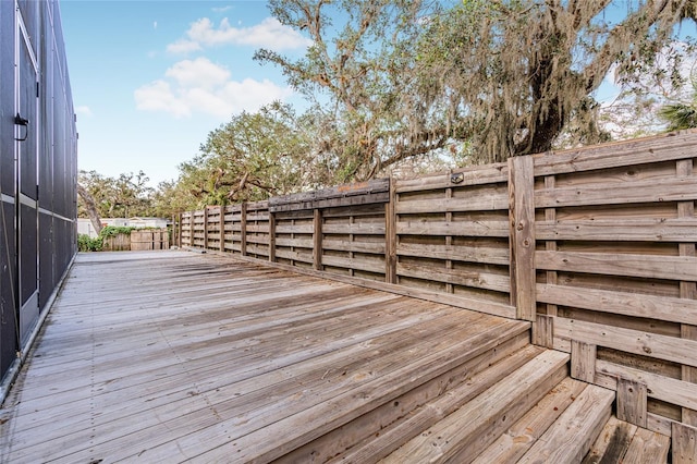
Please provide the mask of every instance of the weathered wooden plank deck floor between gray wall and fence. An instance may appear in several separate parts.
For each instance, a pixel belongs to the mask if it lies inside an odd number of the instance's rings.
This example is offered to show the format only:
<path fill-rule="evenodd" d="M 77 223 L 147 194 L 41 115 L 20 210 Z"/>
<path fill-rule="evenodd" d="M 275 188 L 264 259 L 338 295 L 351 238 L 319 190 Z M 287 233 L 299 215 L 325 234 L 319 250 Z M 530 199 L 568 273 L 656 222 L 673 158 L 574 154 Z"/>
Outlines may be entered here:
<path fill-rule="evenodd" d="M 0 461 L 271 461 L 528 327 L 228 256 L 81 254 Z"/>

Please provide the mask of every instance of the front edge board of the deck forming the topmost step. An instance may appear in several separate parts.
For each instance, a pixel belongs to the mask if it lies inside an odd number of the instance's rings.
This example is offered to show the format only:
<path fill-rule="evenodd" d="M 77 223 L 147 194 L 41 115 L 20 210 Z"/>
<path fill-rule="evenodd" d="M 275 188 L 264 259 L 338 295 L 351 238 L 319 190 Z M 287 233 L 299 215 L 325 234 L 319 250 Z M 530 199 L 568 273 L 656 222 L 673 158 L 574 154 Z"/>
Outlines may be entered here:
<path fill-rule="evenodd" d="M 278 418 L 276 422 L 264 417 L 266 424 L 257 420 L 262 425 L 260 428 L 256 423 L 244 424 L 243 427 L 250 431 L 245 435 L 240 434 L 239 438 L 225 441 L 224 436 L 215 437 L 215 441 L 209 440 L 206 443 L 209 451 L 197 459 L 201 462 L 245 463 L 278 460 L 384 404 L 399 407 L 400 404 L 395 402 L 403 394 L 457 369 L 485 353 L 491 355 L 492 350 L 511 339 L 529 340 L 529 327 L 526 323 L 488 318 L 489 316 L 484 317 L 478 328 L 473 325 L 467 326 L 466 329 L 463 328 L 469 332 L 468 337 L 455 342 L 444 342 L 439 351 L 401 352 L 400 362 L 394 370 L 389 373 L 363 375 L 357 381 L 354 381 L 354 376 L 340 377 L 338 380 L 341 383 L 341 390 L 335 388 L 335 391 L 331 392 L 331 398 L 330 393 L 326 393 L 327 400 L 317 400 L 314 405 L 305 405 L 297 408 L 297 412 L 290 411 L 293 405 L 288 405 L 285 411 L 279 413 L 278 406 L 271 404 L 265 412 L 273 413 L 273 417 Z M 480 359 L 486 362 L 486 358 Z M 305 389 L 304 396 L 308 395 L 306 392 Z M 231 418 L 217 427 L 236 426 L 240 429 L 237 423 L 237 418 Z M 178 444 L 182 445 L 185 441 L 187 447 L 195 447 L 198 443 L 198 441 L 194 442 L 193 438 L 184 437 L 178 441 Z"/>

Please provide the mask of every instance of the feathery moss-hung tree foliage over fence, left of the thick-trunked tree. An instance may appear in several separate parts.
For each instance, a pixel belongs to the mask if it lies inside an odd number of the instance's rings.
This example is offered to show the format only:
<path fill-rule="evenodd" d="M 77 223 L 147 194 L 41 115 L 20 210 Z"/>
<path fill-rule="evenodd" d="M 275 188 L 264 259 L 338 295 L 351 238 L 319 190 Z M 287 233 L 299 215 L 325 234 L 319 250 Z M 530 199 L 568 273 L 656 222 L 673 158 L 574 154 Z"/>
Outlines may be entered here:
<path fill-rule="evenodd" d="M 273 0 L 270 8 L 281 23 L 307 32 L 313 46 L 301 59 L 264 49 L 255 58 L 282 68 L 315 103 L 311 148 L 329 179 L 374 178 L 444 148 L 448 131 L 414 98 L 414 45 L 439 2 Z"/>

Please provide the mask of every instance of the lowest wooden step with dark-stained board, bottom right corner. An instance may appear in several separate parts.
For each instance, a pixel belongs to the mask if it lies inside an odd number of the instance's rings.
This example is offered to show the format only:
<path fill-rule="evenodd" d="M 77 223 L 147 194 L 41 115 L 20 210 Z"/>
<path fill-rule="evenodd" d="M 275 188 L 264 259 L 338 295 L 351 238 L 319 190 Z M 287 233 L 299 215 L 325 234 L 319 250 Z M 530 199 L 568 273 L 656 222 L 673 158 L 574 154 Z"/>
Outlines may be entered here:
<path fill-rule="evenodd" d="M 671 439 L 611 416 L 583 464 L 668 463 Z"/>

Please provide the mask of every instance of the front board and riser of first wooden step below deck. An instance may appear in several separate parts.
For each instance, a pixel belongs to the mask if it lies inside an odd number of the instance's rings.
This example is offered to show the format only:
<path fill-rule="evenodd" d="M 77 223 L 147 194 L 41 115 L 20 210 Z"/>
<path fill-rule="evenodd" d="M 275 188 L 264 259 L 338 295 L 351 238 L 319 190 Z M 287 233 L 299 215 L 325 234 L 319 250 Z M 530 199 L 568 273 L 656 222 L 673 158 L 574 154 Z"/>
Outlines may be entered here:
<path fill-rule="evenodd" d="M 540 353 L 442 420 L 413 436 L 381 462 L 472 462 L 566 377 L 567 362 L 565 353 L 551 350 Z M 444 401 L 439 398 L 429 408 L 439 411 Z"/>

